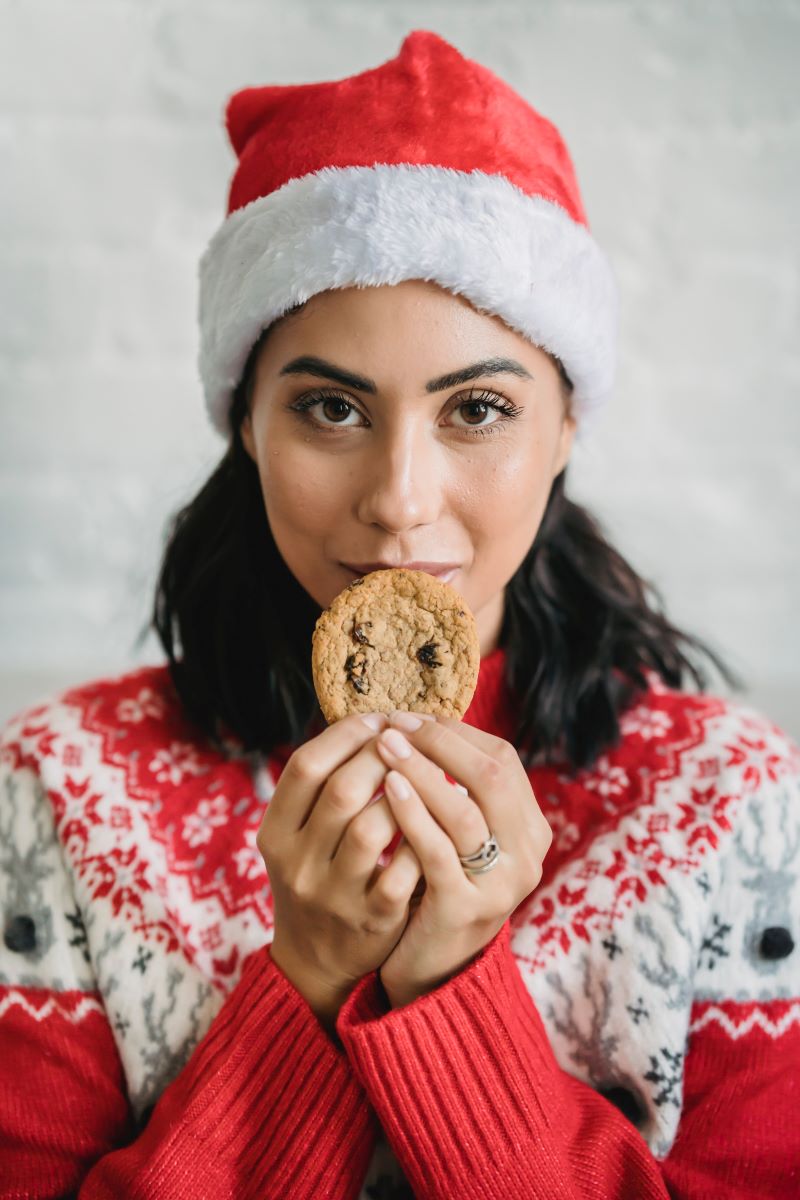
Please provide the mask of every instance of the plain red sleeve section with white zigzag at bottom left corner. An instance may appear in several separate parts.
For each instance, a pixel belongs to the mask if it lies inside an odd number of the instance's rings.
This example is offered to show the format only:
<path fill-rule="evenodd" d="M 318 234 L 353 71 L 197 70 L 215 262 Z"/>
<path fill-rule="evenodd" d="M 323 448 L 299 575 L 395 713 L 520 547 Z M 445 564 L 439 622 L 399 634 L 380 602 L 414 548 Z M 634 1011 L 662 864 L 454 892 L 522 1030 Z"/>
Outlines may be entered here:
<path fill-rule="evenodd" d="M 74 1194 L 133 1133 L 100 998 L 0 986 L 0 1195 Z"/>

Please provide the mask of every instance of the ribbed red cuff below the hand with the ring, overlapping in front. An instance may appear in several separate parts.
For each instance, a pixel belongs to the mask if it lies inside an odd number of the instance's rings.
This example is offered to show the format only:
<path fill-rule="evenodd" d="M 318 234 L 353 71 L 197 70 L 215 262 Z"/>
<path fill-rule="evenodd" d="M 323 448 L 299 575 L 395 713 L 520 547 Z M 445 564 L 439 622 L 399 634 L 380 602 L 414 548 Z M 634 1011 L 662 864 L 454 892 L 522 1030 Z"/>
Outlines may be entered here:
<path fill-rule="evenodd" d="M 337 1031 L 415 1194 L 570 1196 L 565 1096 L 506 922 L 462 972 L 386 1012 L 377 976 Z"/>

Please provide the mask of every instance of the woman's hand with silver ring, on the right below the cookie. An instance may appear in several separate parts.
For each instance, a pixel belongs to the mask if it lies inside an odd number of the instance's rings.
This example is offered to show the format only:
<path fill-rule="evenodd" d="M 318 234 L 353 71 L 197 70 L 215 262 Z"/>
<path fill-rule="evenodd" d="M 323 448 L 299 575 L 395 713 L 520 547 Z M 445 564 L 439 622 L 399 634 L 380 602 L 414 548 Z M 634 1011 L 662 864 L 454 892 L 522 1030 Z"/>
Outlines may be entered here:
<path fill-rule="evenodd" d="M 393 732 L 410 715 L 392 714 Z M 553 832 L 511 743 L 440 716 L 413 732 L 403 730 L 410 754 L 402 758 L 386 744 L 391 732 L 377 742 L 392 768 L 384 790 L 426 883 L 379 972 L 392 1008 L 399 1008 L 452 978 L 492 941 L 539 886 Z M 397 782 L 405 782 L 407 797 Z M 491 834 L 498 840 L 498 863 L 482 875 L 468 875 L 459 856 L 475 853 Z"/>

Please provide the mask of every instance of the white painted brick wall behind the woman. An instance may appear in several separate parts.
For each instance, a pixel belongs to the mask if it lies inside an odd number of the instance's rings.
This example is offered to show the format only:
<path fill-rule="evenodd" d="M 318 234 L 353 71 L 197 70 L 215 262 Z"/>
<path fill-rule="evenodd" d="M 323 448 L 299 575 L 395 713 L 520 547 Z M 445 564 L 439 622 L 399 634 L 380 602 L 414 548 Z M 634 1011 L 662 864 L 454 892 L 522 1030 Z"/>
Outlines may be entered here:
<path fill-rule="evenodd" d="M 621 290 L 572 493 L 800 736 L 796 0 L 0 2 L 0 720 L 142 661 L 168 515 L 222 443 L 196 373 L 225 97 L 433 29 L 563 131 Z"/>

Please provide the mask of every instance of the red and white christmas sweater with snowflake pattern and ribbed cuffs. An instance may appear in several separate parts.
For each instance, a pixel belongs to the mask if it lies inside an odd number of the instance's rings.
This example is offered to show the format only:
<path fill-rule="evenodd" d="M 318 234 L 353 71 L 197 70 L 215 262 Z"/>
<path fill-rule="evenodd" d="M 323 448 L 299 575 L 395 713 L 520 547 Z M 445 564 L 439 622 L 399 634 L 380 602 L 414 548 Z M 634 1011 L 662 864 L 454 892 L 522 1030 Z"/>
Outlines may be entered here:
<path fill-rule="evenodd" d="M 509 740 L 503 649 L 469 724 Z M 530 769 L 539 887 L 461 973 L 329 1036 L 270 959 L 255 833 L 291 752 L 192 733 L 166 667 L 0 744 L 0 1195 L 800 1196 L 800 752 L 650 680 Z"/>

